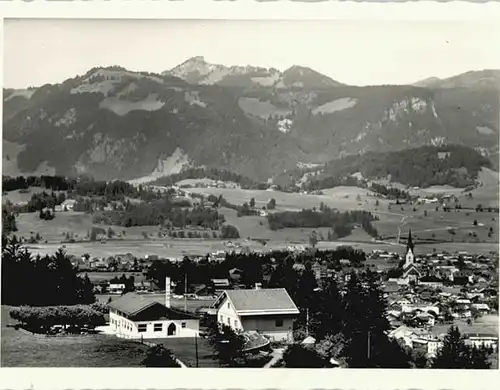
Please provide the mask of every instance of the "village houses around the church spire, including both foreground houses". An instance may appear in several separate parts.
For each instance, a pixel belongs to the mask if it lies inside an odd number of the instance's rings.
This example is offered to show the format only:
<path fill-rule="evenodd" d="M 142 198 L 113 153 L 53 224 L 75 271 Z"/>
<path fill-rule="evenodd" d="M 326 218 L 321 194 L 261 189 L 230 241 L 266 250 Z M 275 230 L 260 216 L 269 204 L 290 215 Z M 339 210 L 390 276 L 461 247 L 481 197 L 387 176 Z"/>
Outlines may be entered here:
<path fill-rule="evenodd" d="M 240 245 L 227 242 L 226 246 L 228 252 L 191 259 L 137 259 L 125 254 L 106 259 L 87 255 L 71 261 L 82 274 L 100 275 L 94 282 L 94 292 L 109 307 L 109 323 L 98 328 L 105 334 L 150 342 L 203 337 L 203 324 L 211 319 L 244 334 L 251 345 L 246 352 L 272 356 L 273 362 L 281 356 L 283 346 L 290 343 L 314 345 L 316 340 L 307 331 L 302 339 L 294 339 L 293 323 L 299 309 L 286 289 L 262 287 L 268 285 L 268 278 L 248 288 L 248 283 L 241 280 L 244 271 L 238 268 L 230 268 L 226 277 L 211 278 L 204 284 L 190 283 L 186 274 L 186 283 L 181 283 L 183 291 L 179 291 L 179 283 L 169 277 L 164 287 L 145 277 L 155 262 L 224 264 L 227 253 L 232 250 L 237 256 L 235 251 Z M 304 271 L 306 266 L 300 256 L 312 248 L 295 246 L 289 250 L 289 256 L 297 258 L 293 268 L 299 273 Z M 353 271 L 359 271 L 348 259 L 340 259 L 340 268 L 334 270 L 320 257 L 310 267 L 318 286 L 328 280 L 343 286 Z M 392 267 L 387 268 L 387 264 Z M 467 343 L 497 351 L 498 254 L 421 254 L 409 231 L 406 252 L 375 250 L 366 256 L 365 267 L 378 275 L 384 292 L 389 338 L 432 359 L 442 347 L 448 327 L 462 324 L 460 330 Z M 106 274 L 115 276 L 106 280 Z M 136 275 L 137 280 L 131 277 L 134 281 L 130 282 L 125 274 Z M 272 348 L 274 343 L 279 343 L 278 348 Z M 338 366 L 332 361 L 332 366 Z"/>

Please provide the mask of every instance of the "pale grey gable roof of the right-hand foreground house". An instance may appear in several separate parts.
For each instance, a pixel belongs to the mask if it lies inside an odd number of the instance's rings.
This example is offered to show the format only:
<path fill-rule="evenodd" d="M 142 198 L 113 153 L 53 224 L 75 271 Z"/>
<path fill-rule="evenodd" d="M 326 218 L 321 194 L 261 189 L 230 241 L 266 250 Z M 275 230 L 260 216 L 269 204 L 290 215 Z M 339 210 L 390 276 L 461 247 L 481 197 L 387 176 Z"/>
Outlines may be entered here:
<path fill-rule="evenodd" d="M 227 297 L 238 315 L 299 314 L 284 288 L 225 290 L 214 303 L 220 307 Z"/>

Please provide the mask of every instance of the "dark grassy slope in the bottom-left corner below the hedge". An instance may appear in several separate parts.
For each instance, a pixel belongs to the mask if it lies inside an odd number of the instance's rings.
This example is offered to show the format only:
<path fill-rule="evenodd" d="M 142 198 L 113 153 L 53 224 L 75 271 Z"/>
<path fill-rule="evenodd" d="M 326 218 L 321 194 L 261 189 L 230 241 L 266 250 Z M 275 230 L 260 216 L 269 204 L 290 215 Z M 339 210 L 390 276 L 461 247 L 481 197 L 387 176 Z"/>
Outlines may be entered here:
<path fill-rule="evenodd" d="M 145 345 L 105 335 L 39 337 L 8 325 L 2 306 L 2 367 L 140 367 Z"/>

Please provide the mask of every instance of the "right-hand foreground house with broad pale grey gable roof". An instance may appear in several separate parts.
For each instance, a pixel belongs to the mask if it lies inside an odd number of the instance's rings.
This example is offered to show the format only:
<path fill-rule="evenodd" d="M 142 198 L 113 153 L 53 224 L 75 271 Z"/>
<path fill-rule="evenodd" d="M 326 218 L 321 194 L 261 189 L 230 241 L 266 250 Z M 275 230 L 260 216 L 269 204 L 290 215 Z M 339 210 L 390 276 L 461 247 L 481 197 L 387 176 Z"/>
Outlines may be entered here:
<path fill-rule="evenodd" d="M 273 341 L 292 342 L 299 309 L 284 288 L 224 290 L 212 306 L 217 322 Z"/>

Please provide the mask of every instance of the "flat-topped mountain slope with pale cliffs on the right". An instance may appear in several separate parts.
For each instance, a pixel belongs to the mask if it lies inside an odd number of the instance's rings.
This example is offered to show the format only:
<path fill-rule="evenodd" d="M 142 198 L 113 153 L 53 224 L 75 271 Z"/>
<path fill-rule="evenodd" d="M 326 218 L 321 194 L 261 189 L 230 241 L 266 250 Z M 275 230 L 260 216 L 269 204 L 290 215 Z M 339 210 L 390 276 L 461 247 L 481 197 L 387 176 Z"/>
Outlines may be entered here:
<path fill-rule="evenodd" d="M 495 89 L 412 86 L 246 91 L 239 104 L 294 139 L 308 163 L 443 143 L 498 151 Z"/>

